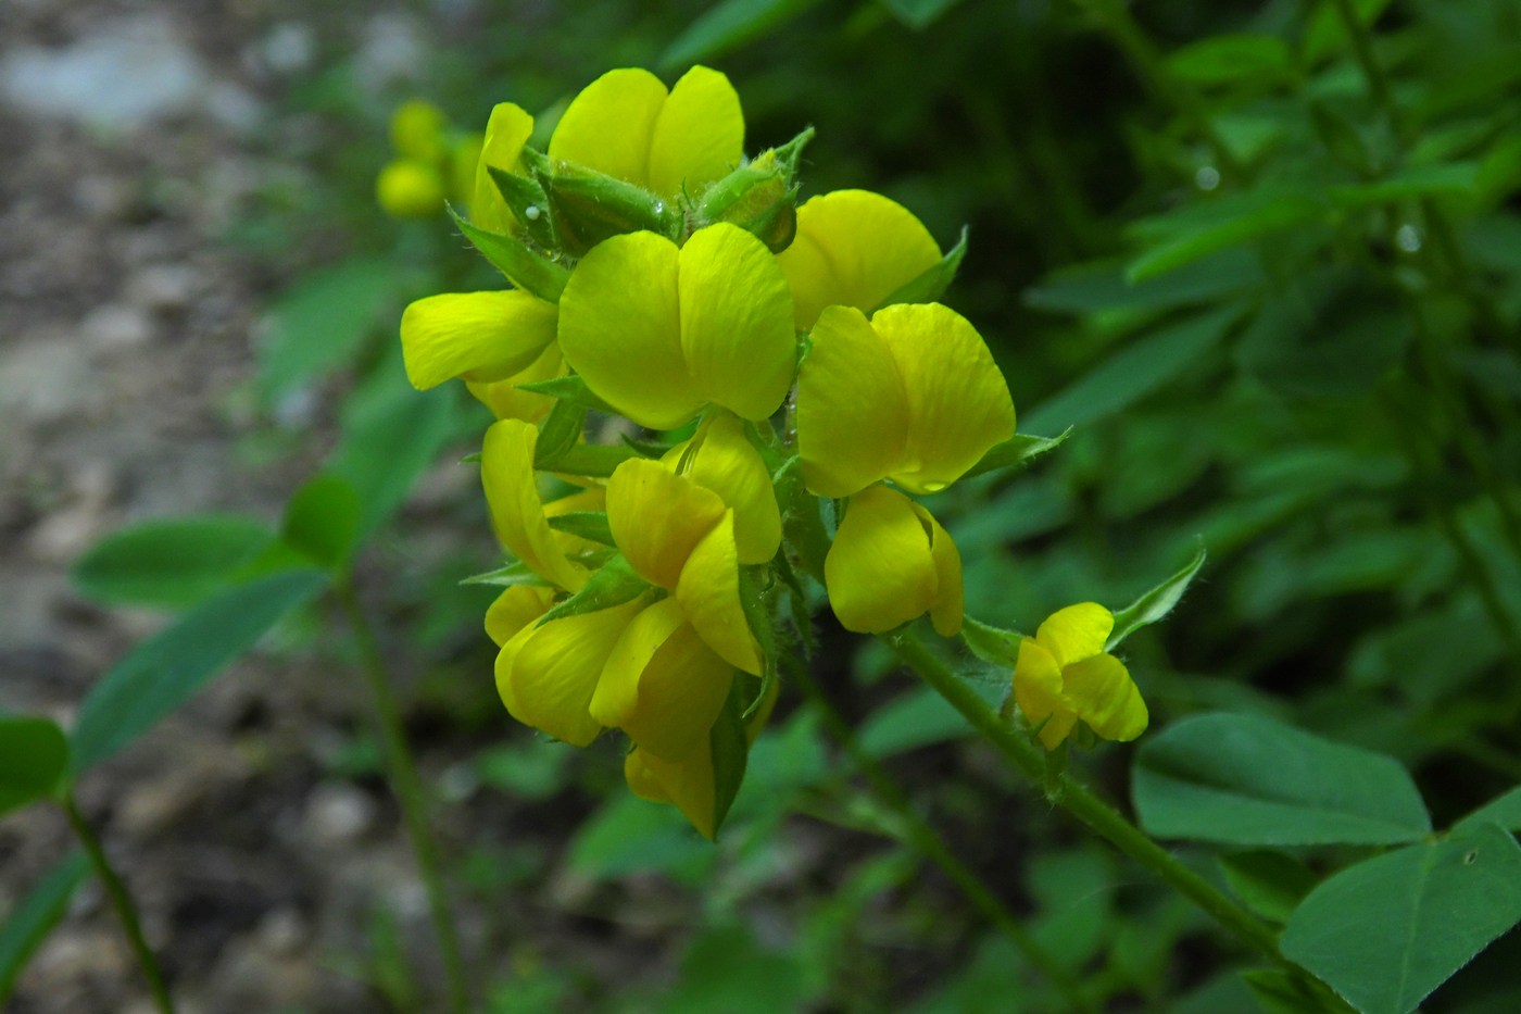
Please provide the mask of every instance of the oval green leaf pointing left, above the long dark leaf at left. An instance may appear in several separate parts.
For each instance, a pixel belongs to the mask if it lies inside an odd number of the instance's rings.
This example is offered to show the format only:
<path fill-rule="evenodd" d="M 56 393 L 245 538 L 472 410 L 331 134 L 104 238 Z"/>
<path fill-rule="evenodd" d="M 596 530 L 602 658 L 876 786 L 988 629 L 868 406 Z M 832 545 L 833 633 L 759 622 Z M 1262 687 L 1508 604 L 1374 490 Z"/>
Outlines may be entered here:
<path fill-rule="evenodd" d="M 245 515 L 186 515 L 143 521 L 96 542 L 70 577 L 102 603 L 179 609 L 231 583 L 274 540 Z"/>

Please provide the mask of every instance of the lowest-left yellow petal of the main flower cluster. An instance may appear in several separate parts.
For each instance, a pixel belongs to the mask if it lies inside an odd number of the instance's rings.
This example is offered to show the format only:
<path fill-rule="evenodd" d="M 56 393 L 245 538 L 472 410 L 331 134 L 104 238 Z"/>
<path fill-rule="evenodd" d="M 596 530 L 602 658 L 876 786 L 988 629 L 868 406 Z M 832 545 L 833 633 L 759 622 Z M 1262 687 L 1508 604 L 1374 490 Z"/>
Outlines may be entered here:
<path fill-rule="evenodd" d="M 586 746 L 602 731 L 589 706 L 607 656 L 642 603 L 523 627 L 502 646 L 496 685 L 514 719 Z"/>

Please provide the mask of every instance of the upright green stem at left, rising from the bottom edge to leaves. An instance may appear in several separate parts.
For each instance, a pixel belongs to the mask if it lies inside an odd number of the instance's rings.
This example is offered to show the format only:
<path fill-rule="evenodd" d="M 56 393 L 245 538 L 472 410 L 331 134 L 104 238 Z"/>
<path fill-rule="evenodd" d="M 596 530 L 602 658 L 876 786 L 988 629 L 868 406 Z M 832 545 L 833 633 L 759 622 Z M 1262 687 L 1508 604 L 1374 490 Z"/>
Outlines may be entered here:
<path fill-rule="evenodd" d="M 376 641 L 374 629 L 370 626 L 353 585 L 341 579 L 333 585 L 348 624 L 354 632 L 359 646 L 362 668 L 370 681 L 370 691 L 374 697 L 376 716 L 380 720 L 380 735 L 385 741 L 386 767 L 391 775 L 391 789 L 402 807 L 402 819 L 406 824 L 408 836 L 412 839 L 412 853 L 417 857 L 417 869 L 423 877 L 423 888 L 427 892 L 427 910 L 433 921 L 433 932 L 438 936 L 438 950 L 444 959 L 444 979 L 449 988 L 449 1009 L 455 1014 L 470 1006 L 470 990 L 465 985 L 465 967 L 459 952 L 459 936 L 455 930 L 453 912 L 449 904 L 449 892 L 444 886 L 441 863 L 438 859 L 438 843 L 429 831 L 427 793 L 423 780 L 417 773 L 417 763 L 406 745 L 406 734 L 402 729 L 402 708 L 397 705 L 395 693 L 386 676 L 385 661 L 380 656 L 380 646 Z"/>

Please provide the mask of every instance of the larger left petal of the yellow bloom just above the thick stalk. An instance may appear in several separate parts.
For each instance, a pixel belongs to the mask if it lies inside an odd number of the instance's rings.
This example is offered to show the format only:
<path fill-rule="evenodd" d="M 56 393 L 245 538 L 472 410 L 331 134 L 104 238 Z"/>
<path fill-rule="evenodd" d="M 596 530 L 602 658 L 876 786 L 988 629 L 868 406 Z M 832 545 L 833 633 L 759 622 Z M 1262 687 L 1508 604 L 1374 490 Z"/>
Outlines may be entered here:
<path fill-rule="evenodd" d="M 885 486 L 850 498 L 824 557 L 829 604 L 846 630 L 884 633 L 935 603 L 940 577 L 916 504 Z"/>

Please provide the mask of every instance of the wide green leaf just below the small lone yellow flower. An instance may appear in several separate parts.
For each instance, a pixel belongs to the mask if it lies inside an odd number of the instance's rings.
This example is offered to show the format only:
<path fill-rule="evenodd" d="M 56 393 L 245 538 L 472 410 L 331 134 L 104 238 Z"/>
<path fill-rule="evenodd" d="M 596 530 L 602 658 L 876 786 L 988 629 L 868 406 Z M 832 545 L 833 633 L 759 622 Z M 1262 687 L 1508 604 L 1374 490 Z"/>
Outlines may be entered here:
<path fill-rule="evenodd" d="M 1393 758 L 1247 714 L 1194 716 L 1142 743 L 1132 792 L 1157 837 L 1393 845 L 1431 833 Z"/>

